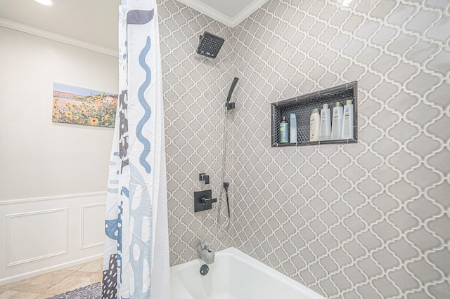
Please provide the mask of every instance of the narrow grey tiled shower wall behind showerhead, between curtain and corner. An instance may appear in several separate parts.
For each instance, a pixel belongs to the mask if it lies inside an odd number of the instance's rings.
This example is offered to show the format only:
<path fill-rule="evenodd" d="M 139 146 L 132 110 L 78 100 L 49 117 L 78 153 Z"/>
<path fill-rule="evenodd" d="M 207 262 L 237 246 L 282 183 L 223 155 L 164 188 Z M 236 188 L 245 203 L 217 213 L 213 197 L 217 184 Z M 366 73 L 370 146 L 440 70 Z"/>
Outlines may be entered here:
<path fill-rule="evenodd" d="M 167 205 L 171 265 L 197 258 L 200 240 L 231 246 L 231 230 L 214 225 L 217 209 L 194 213 L 193 192 L 221 188 L 226 94 L 235 72 L 231 29 L 174 0 L 158 1 L 165 105 Z M 223 36 L 215 60 L 195 53 L 203 32 Z M 230 137 L 229 137 L 230 138 Z M 227 163 L 227 171 L 230 164 Z M 210 175 L 210 185 L 199 173 Z"/>

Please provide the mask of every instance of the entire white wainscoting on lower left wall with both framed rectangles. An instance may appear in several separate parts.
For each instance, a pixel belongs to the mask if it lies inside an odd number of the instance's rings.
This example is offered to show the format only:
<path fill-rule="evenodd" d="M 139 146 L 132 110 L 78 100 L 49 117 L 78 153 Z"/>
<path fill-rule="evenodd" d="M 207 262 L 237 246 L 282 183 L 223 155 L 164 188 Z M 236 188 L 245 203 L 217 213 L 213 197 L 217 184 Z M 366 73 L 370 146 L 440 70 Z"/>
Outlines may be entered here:
<path fill-rule="evenodd" d="M 106 192 L 0 201 L 0 286 L 103 256 Z"/>

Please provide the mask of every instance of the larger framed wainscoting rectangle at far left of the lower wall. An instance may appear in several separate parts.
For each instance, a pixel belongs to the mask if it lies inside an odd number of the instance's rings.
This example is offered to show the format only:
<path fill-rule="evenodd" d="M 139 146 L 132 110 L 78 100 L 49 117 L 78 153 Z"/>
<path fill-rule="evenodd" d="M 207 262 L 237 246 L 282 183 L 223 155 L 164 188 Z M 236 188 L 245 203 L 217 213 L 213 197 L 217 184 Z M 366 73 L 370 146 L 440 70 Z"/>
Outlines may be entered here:
<path fill-rule="evenodd" d="M 6 267 L 68 253 L 68 208 L 6 215 Z"/>

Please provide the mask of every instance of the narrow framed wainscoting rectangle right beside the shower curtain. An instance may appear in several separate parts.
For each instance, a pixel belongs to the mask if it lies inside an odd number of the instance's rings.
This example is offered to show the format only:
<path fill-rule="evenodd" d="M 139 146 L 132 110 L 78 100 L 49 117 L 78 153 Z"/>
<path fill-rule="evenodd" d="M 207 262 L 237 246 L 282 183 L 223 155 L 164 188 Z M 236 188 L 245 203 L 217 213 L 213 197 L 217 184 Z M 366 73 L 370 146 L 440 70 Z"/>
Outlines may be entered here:
<path fill-rule="evenodd" d="M 105 243 L 105 219 L 98 217 L 105 214 L 105 208 L 106 204 L 82 206 L 82 249 Z"/>

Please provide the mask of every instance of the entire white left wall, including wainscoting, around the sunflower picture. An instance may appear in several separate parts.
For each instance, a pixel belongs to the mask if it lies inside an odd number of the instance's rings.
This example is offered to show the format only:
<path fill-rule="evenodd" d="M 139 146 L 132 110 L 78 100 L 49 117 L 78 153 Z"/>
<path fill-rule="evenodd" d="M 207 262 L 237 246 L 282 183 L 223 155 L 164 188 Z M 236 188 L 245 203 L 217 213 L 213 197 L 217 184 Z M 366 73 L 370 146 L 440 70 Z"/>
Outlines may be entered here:
<path fill-rule="evenodd" d="M 113 128 L 54 124 L 53 82 L 117 93 L 117 57 L 0 27 L 0 285 L 101 257 Z"/>

